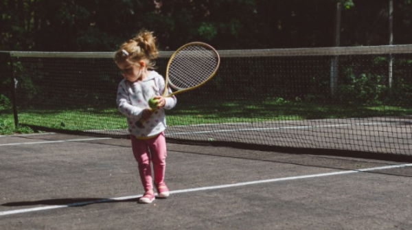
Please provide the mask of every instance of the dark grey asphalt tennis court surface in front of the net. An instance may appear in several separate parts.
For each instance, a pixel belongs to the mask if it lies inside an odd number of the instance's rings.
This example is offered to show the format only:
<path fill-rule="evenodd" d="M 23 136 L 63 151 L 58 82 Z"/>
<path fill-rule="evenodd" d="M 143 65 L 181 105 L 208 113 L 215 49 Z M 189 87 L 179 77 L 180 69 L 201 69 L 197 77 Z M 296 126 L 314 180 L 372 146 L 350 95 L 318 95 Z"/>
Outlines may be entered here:
<path fill-rule="evenodd" d="M 150 205 L 128 139 L 0 137 L 0 229 L 412 229 L 412 162 L 168 143 Z M 352 154 L 354 155 L 354 154 Z"/>

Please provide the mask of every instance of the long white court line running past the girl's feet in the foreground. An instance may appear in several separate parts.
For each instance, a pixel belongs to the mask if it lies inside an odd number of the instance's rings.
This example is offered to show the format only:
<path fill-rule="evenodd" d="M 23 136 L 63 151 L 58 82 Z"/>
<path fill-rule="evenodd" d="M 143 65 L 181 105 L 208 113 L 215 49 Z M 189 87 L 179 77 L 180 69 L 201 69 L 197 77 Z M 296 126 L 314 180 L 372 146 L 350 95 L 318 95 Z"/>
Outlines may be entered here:
<path fill-rule="evenodd" d="M 412 163 L 408 164 L 403 164 L 403 165 L 389 165 L 389 166 L 382 166 L 382 167 L 376 167 L 376 168 L 364 168 L 364 169 L 358 169 L 358 170 L 347 170 L 347 171 L 339 171 L 339 172 L 327 172 L 327 173 L 321 173 L 321 174 L 310 174 L 310 175 L 304 175 L 304 176 L 289 176 L 289 177 L 283 177 L 283 178 L 275 178 L 275 179 L 268 179 L 268 180 L 261 180 L 261 181 L 249 181 L 249 182 L 244 182 L 244 183 L 233 183 L 233 184 L 227 184 L 227 185 L 216 185 L 216 186 L 209 186 L 209 187 L 196 187 L 192 189 L 181 189 L 181 190 L 175 190 L 175 191 L 170 191 L 170 194 L 181 194 L 181 193 L 187 193 L 187 192 L 198 192 L 198 191 L 205 191 L 205 190 L 213 190 L 213 189 L 224 189 L 227 187 L 238 187 L 238 186 L 246 186 L 246 185 L 255 185 L 255 184 L 262 184 L 262 183 L 273 183 L 273 182 L 278 182 L 278 181 L 292 181 L 292 180 L 298 180 L 298 179 L 310 179 L 310 178 L 316 178 L 316 177 L 322 177 L 322 176 L 336 176 L 336 175 L 341 175 L 341 174 L 352 174 L 356 172 L 369 172 L 369 171 L 376 171 L 376 170 L 388 170 L 388 169 L 393 169 L 393 168 L 403 168 L 403 167 L 411 167 Z M 105 202 L 111 202 L 115 200 L 130 200 L 133 198 L 139 198 L 143 196 L 143 194 L 135 195 L 135 196 L 122 196 L 122 197 L 116 197 L 116 198 L 107 198 L 107 199 L 102 199 L 102 200 L 92 200 L 92 201 L 84 201 L 84 202 L 79 202 L 79 203 L 71 203 L 67 205 L 49 205 L 45 207 L 34 207 L 31 209 L 16 209 L 16 210 L 11 210 L 11 211 L 0 211 L 0 216 L 8 216 L 12 214 L 23 214 L 31 211 L 43 211 L 43 210 L 48 210 L 48 209 L 60 209 L 60 208 L 65 208 L 65 207 L 75 207 L 75 206 L 80 206 L 80 205 L 92 205 L 96 203 L 105 203 Z"/>

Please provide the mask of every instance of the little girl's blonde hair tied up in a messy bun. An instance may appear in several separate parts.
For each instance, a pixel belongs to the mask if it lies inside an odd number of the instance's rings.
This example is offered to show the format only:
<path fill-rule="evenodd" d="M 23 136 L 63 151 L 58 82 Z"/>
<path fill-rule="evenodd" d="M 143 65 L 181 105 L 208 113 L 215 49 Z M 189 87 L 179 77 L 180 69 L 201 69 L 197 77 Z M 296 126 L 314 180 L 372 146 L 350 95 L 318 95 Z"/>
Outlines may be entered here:
<path fill-rule="evenodd" d="M 144 60 L 146 67 L 153 69 L 155 67 L 157 54 L 156 37 L 153 36 L 153 32 L 142 30 L 135 38 L 120 45 L 119 50 L 115 53 L 115 62 L 130 62 L 135 64 Z"/>

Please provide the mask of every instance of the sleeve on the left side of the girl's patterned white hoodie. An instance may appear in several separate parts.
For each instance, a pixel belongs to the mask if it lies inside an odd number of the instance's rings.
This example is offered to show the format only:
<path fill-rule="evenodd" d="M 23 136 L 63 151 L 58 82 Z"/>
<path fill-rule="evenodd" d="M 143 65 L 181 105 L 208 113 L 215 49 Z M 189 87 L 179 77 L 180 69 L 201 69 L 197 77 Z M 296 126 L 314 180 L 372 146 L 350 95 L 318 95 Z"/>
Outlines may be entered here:
<path fill-rule="evenodd" d="M 119 87 L 117 88 L 117 106 L 119 108 L 119 112 L 125 115 L 126 117 L 133 118 L 133 119 L 140 119 L 141 112 L 143 109 L 133 106 L 130 103 L 129 93 L 127 91 L 126 83 L 124 80 L 120 82 Z"/>

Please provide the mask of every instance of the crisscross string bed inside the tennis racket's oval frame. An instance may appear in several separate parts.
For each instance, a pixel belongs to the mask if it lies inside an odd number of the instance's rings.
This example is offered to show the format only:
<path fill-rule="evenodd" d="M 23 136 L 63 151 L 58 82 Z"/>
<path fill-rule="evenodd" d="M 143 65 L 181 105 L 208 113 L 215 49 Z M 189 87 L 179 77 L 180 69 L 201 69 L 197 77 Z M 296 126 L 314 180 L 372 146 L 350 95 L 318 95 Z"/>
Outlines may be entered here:
<path fill-rule="evenodd" d="M 170 62 L 168 78 L 175 89 L 196 87 L 209 79 L 218 66 L 217 54 L 202 45 L 190 45 Z"/>

